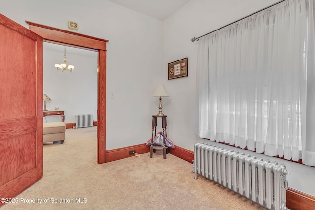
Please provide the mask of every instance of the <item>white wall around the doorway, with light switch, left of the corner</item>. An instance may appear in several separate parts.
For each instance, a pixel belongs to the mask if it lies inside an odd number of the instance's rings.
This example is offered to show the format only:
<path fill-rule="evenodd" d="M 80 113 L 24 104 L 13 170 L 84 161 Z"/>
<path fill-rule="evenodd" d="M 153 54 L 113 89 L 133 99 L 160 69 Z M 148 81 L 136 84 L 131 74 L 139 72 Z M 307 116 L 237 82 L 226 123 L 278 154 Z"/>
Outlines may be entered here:
<path fill-rule="evenodd" d="M 0 13 L 26 28 L 28 20 L 69 30 L 67 22 L 72 20 L 79 24 L 74 32 L 109 40 L 106 150 L 142 144 L 151 137 L 151 115 L 158 113 L 158 99 L 151 94 L 162 71 L 162 21 L 107 0 L 0 0 Z M 63 55 L 58 57 L 63 59 Z M 70 57 L 67 59 L 70 62 Z M 79 70 L 74 65 L 71 74 Z M 46 86 L 44 90 L 55 103 L 55 94 L 50 95 Z M 114 99 L 109 98 L 110 91 L 115 93 Z M 61 102 L 56 101 L 56 106 L 63 109 Z"/>

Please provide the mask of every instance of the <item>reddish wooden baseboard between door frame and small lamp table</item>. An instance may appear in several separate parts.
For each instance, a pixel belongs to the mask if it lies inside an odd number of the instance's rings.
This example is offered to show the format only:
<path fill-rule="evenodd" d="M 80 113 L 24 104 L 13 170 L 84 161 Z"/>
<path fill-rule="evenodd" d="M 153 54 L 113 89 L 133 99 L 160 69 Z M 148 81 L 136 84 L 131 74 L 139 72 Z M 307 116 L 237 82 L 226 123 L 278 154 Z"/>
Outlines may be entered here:
<path fill-rule="evenodd" d="M 138 154 L 148 153 L 150 151 L 150 147 L 146 146 L 144 143 L 139 145 L 133 145 L 123 148 L 117 148 L 113 150 L 106 150 L 105 162 L 111 162 L 115 160 L 120 160 L 123 158 L 134 156 L 134 154 L 130 155 L 129 151 L 135 150 Z"/>

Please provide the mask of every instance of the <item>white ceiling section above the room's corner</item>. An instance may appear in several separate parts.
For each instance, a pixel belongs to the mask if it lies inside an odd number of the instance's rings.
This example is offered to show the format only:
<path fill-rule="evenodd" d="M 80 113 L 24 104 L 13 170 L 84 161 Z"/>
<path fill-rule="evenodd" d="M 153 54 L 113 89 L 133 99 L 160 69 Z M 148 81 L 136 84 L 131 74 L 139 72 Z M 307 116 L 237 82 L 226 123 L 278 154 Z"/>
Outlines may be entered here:
<path fill-rule="evenodd" d="M 190 0 L 109 0 L 134 11 L 164 20 Z"/>

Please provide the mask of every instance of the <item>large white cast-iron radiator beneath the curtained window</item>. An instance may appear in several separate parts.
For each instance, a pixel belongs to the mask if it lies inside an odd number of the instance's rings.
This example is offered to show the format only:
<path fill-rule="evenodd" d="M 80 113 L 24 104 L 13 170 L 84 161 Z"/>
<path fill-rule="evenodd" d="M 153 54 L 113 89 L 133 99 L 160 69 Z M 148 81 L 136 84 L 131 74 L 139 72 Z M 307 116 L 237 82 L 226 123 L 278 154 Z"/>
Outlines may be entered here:
<path fill-rule="evenodd" d="M 193 171 L 274 210 L 286 209 L 289 174 L 284 164 L 207 143 L 194 147 Z"/>

